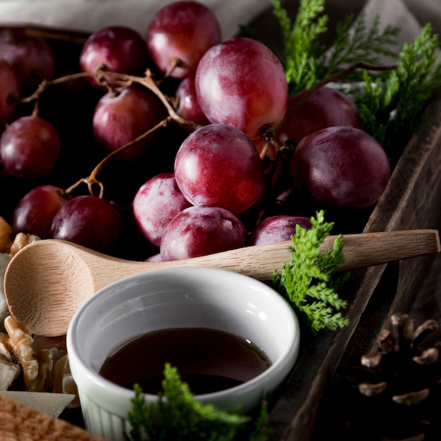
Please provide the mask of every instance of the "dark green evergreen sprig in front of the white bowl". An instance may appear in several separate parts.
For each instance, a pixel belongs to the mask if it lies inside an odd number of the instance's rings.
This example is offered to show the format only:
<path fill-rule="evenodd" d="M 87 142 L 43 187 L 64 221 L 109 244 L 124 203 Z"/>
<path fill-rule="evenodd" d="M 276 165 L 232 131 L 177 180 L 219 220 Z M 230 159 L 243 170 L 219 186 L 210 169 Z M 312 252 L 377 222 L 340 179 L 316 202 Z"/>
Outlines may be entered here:
<path fill-rule="evenodd" d="M 237 411 L 224 411 L 213 404 L 197 401 L 177 368 L 166 364 L 159 394 L 158 409 L 146 404 L 141 387 L 135 385 L 135 397 L 128 414 L 131 426 L 128 441 L 265 441 L 268 419 L 266 403 L 256 418 Z M 155 414 L 156 412 L 156 414 Z M 155 415 L 156 420 L 155 421 Z"/>

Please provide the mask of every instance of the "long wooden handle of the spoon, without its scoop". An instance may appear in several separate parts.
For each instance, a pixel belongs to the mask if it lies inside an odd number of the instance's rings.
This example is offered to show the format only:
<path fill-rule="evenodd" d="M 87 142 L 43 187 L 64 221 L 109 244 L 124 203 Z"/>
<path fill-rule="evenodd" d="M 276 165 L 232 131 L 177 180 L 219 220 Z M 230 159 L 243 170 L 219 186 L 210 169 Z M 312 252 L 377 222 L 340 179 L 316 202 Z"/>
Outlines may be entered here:
<path fill-rule="evenodd" d="M 325 253 L 326 250 L 332 249 L 336 237 L 335 235 L 325 237 L 321 245 L 321 252 Z M 344 235 L 343 240 L 344 262 L 337 267 L 338 271 L 349 271 L 409 259 L 436 253 L 441 249 L 437 230 L 366 232 Z M 97 272 L 95 285 L 97 289 L 108 285 L 109 273 L 114 273 L 118 278 L 122 278 L 144 271 L 184 266 L 222 268 L 249 275 L 258 280 L 271 280 L 274 270 L 279 269 L 282 262 L 290 260 L 290 246 L 292 246 L 291 241 L 277 242 L 168 262 L 147 263 L 108 259 L 107 268 L 106 261 L 100 262 L 101 271 Z M 128 265 L 124 265 L 123 262 Z M 100 274 L 103 275 L 102 280 L 99 280 Z"/>

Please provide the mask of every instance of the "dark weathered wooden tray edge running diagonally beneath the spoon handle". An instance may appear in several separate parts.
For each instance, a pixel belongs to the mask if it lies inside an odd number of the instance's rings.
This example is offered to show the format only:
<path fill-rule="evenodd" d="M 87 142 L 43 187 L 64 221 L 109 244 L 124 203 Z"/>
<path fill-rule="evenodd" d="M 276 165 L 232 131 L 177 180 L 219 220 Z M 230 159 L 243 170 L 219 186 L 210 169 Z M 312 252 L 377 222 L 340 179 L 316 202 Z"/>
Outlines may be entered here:
<path fill-rule="evenodd" d="M 440 228 L 440 91 L 426 113 L 365 232 Z M 351 302 L 347 311 L 350 324 L 337 333 L 323 333 L 302 342 L 299 360 L 270 414 L 271 441 L 315 439 L 321 402 L 340 362 L 369 349 L 387 326 L 390 313 L 411 310 L 436 257 L 440 259 L 434 254 L 389 264 L 390 268 L 383 265 L 352 273 L 345 289 Z"/>

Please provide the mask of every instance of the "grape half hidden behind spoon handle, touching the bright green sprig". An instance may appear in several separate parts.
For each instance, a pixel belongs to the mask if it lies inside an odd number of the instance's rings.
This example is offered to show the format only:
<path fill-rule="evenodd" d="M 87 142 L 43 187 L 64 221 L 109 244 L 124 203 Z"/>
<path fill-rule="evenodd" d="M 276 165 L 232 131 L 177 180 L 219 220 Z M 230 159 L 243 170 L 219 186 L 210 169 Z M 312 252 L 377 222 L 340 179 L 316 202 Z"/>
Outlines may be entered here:
<path fill-rule="evenodd" d="M 275 215 L 262 219 L 249 235 L 249 245 L 271 244 L 291 240 L 295 235 L 296 225 L 309 230 L 311 219 L 304 216 Z"/>

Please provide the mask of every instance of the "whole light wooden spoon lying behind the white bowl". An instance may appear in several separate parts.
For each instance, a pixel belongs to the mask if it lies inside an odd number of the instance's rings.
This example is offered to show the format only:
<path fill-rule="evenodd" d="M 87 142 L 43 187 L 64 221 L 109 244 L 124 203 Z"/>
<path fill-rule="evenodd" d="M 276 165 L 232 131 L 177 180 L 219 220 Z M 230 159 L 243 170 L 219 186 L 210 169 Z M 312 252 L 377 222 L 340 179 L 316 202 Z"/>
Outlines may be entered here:
<path fill-rule="evenodd" d="M 321 252 L 336 236 L 325 238 Z M 440 251 L 437 230 L 404 230 L 344 235 L 344 263 L 349 271 Z M 289 261 L 291 241 L 244 247 L 170 262 L 116 259 L 61 240 L 40 240 L 18 251 L 6 268 L 4 291 L 11 314 L 32 333 L 64 335 L 78 307 L 102 287 L 129 275 L 159 268 L 223 268 L 259 280 Z"/>

